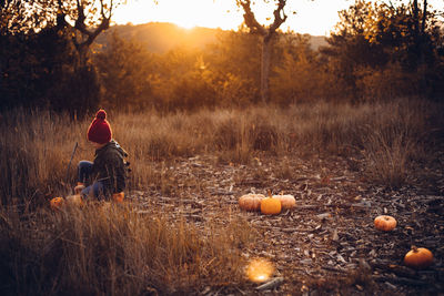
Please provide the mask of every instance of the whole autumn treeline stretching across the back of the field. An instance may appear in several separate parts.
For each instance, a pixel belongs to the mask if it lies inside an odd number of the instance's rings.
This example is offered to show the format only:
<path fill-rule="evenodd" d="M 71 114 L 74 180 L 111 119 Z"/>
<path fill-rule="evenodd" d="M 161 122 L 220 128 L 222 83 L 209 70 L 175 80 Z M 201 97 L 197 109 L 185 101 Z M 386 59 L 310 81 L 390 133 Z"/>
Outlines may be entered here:
<path fill-rule="evenodd" d="M 169 112 L 261 102 L 261 40 L 246 27 L 220 31 L 205 47 L 190 42 L 152 52 L 117 30 L 104 43 L 92 42 L 109 28 L 111 17 L 91 24 L 90 33 L 82 12 L 74 13 L 75 24 L 70 24 L 60 11 L 51 14 L 47 8 L 44 14 L 30 14 L 27 9 L 21 1 L 1 2 L 3 110 L 20 105 L 82 113 L 105 106 Z M 319 49 L 311 47 L 309 35 L 280 31 L 274 37 L 271 103 L 443 100 L 444 29 L 426 1 L 355 1 L 340 17 L 327 44 Z M 83 43 L 75 41 L 78 34 L 83 34 Z"/>

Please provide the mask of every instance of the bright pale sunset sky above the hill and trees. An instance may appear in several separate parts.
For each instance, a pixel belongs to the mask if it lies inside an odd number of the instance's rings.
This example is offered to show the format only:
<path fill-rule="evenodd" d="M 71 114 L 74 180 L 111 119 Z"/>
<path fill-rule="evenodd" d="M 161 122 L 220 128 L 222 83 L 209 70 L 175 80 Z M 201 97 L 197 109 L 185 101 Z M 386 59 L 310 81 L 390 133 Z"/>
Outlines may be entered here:
<path fill-rule="evenodd" d="M 253 7 L 258 20 L 269 23 L 274 6 L 256 1 Z M 273 2 L 273 1 L 271 1 Z M 430 0 L 432 6 L 442 9 L 443 1 Z M 285 12 L 289 16 L 281 29 L 313 35 L 329 34 L 339 21 L 337 11 L 349 8 L 352 0 L 289 0 Z M 296 14 L 293 14 L 293 11 Z M 172 22 L 183 28 L 208 27 L 224 30 L 236 29 L 243 21 L 242 11 L 235 0 L 128 0 L 114 11 L 113 21 L 118 24 Z"/>

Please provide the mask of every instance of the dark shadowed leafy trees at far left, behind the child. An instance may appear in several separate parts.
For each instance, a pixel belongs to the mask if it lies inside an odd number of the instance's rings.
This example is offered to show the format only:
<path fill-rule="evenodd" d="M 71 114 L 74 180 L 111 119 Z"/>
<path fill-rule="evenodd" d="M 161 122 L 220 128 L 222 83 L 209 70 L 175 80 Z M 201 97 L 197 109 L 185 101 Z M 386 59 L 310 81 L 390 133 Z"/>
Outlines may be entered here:
<path fill-rule="evenodd" d="M 85 45 L 75 30 L 93 25 L 92 2 L 82 1 L 82 12 L 74 1 L 7 1 L 0 10 L 0 108 L 48 106 L 83 113 L 97 109 L 100 85 L 89 62 L 89 35 Z M 59 7 L 62 6 L 62 7 Z M 109 11 L 111 7 L 103 11 Z M 102 17 L 103 17 L 102 11 Z M 110 12 L 110 11 L 109 11 Z M 77 18 L 75 25 L 67 22 Z M 73 30 L 75 28 L 75 30 Z M 94 31 L 100 32 L 100 31 Z"/>

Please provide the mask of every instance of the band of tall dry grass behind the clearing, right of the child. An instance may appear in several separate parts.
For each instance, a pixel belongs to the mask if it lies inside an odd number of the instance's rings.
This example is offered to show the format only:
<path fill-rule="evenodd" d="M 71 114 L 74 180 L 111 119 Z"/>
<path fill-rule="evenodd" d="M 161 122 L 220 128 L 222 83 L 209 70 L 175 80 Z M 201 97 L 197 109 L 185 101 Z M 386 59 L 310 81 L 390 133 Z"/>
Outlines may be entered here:
<path fill-rule="evenodd" d="M 119 114 L 117 131 L 139 160 L 216 154 L 222 162 L 248 164 L 256 154 L 307 157 L 342 154 L 363 157 L 361 169 L 371 182 L 400 186 L 408 182 L 412 166 L 430 147 L 431 130 L 441 126 L 442 106 L 418 100 L 361 105 L 293 105 L 282 110 L 251 106 L 248 110 L 200 111 L 167 116 L 151 113 Z M 131 147 L 132 146 L 132 147 Z M 137 175 L 153 171 L 139 166 Z M 148 180 L 137 180 L 145 185 Z M 149 181 L 148 181 L 149 182 Z"/>

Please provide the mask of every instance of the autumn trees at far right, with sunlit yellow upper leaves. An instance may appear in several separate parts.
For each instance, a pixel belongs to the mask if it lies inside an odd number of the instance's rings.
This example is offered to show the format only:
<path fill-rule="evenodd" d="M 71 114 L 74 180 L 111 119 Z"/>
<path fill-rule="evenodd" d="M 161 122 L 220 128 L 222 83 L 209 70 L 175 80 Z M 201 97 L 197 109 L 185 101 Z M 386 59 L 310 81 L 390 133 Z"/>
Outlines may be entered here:
<path fill-rule="evenodd" d="M 394 7 L 360 0 L 340 16 L 322 53 L 346 98 L 442 95 L 436 86 L 444 82 L 444 55 L 435 12 L 417 2 Z"/>

